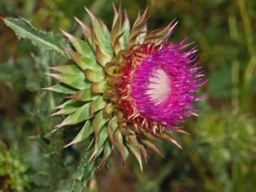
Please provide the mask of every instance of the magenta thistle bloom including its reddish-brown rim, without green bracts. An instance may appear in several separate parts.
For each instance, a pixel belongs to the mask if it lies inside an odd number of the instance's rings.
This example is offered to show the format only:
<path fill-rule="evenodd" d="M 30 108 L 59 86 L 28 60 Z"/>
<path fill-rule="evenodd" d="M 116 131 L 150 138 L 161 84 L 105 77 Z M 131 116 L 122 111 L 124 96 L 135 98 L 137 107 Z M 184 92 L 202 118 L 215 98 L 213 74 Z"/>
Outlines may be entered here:
<path fill-rule="evenodd" d="M 183 50 L 186 41 L 155 46 L 146 43 L 130 50 L 121 69 L 119 109 L 140 129 L 156 133 L 159 129 L 181 128 L 177 123 L 196 114 L 194 93 L 203 85 L 198 72 L 196 48 Z"/>

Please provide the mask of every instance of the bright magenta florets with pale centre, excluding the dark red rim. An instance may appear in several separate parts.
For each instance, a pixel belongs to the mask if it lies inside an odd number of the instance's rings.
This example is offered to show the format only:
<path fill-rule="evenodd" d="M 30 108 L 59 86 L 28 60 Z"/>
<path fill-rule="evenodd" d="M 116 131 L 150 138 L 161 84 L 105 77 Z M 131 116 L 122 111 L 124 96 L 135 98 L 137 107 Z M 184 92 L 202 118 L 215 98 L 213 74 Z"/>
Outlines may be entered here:
<path fill-rule="evenodd" d="M 192 104 L 198 97 L 194 94 L 205 82 L 201 78 L 203 71 L 198 71 L 198 63 L 194 63 L 196 48 L 183 50 L 184 46 L 185 41 L 166 43 L 148 55 L 131 83 L 138 111 L 169 128 L 196 113 Z"/>

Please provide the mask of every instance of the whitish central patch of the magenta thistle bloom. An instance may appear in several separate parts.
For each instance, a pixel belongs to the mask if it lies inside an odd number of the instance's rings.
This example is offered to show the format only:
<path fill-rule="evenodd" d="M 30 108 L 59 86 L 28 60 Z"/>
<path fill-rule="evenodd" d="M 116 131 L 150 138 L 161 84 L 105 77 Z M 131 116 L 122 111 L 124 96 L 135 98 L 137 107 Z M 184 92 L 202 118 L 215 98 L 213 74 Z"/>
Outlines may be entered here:
<path fill-rule="evenodd" d="M 160 105 L 171 94 L 171 79 L 162 68 L 154 70 L 151 74 L 146 95 L 149 95 L 155 105 Z"/>

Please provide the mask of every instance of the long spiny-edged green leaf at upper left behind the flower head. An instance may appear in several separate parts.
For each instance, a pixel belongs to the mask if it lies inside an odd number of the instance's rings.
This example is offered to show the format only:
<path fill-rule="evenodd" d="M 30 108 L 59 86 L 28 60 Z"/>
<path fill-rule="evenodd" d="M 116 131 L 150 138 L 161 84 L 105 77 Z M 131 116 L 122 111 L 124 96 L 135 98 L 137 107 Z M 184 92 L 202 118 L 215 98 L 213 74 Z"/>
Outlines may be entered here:
<path fill-rule="evenodd" d="M 54 50 L 57 53 L 68 58 L 68 54 L 63 50 L 64 47 L 69 47 L 68 41 L 62 36 L 54 33 L 46 33 L 39 31 L 31 23 L 28 23 L 24 18 L 2 18 L 6 26 L 13 29 L 18 38 L 28 39 L 34 46 L 38 46 L 43 51 Z"/>

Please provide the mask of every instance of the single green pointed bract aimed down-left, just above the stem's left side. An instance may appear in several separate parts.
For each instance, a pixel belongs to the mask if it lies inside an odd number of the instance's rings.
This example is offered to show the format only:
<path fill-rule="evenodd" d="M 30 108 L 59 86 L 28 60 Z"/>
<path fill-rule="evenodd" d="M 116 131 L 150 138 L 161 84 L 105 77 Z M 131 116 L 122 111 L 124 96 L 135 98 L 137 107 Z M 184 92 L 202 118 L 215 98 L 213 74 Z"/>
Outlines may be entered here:
<path fill-rule="evenodd" d="M 73 139 L 73 141 L 67 144 L 65 147 L 84 141 L 90 136 L 90 134 L 92 134 L 92 132 L 93 127 L 90 123 L 90 120 L 88 120 L 87 122 L 85 122 L 85 125 L 82 127 L 81 131 L 78 133 L 75 139 Z"/>

